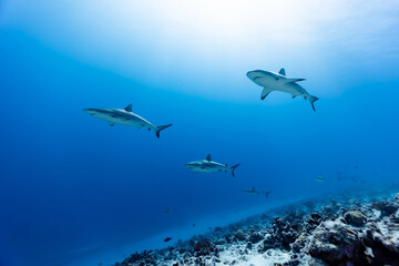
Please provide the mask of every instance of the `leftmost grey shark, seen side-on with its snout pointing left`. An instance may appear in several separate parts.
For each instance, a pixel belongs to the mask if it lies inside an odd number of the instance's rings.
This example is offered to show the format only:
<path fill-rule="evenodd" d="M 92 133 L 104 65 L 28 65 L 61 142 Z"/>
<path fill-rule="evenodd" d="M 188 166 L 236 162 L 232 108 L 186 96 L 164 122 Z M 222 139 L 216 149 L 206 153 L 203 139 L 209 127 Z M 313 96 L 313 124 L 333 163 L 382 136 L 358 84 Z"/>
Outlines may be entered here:
<path fill-rule="evenodd" d="M 102 119 L 109 122 L 111 126 L 115 124 L 130 125 L 137 129 L 147 129 L 155 131 L 156 137 L 160 137 L 160 132 L 172 124 L 167 125 L 153 125 L 142 116 L 132 112 L 132 104 L 125 109 L 83 109 L 83 112 L 93 115 L 94 117 Z"/>

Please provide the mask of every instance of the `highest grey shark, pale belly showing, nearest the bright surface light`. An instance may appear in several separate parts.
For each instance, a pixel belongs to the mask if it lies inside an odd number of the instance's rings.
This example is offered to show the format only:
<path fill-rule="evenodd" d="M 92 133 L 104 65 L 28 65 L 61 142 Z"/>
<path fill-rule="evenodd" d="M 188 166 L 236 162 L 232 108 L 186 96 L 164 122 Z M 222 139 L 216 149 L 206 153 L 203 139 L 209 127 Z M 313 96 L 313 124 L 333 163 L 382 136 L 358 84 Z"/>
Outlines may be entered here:
<path fill-rule="evenodd" d="M 293 98 L 300 95 L 304 96 L 305 100 L 309 100 L 313 110 L 316 111 L 314 103 L 318 100 L 318 98 L 310 95 L 297 83 L 299 81 L 304 81 L 305 79 L 287 79 L 284 69 L 280 69 L 278 73 L 254 70 L 247 72 L 246 75 L 249 80 L 264 88 L 260 94 L 262 100 L 264 100 L 273 91 L 286 92 L 290 93 Z"/>

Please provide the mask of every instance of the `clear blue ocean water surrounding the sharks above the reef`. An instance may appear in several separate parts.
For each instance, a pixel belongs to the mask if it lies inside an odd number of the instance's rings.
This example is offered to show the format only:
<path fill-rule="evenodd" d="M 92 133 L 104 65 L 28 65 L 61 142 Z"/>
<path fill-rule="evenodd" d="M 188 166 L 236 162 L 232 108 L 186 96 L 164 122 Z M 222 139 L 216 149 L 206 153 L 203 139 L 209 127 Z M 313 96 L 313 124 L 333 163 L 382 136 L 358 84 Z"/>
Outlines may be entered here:
<path fill-rule="evenodd" d="M 278 19 L 282 7 L 262 17 L 234 1 L 227 22 L 228 12 L 207 13 L 212 2 L 192 3 L 194 22 L 178 1 L 34 2 L 0 1 L 0 265 L 66 265 L 180 226 L 190 235 L 217 214 L 398 178 L 395 1 L 344 2 L 356 11 L 345 18 L 339 4 L 316 4 L 337 9 L 325 20 L 311 10 Z M 276 31 L 263 27 L 276 18 Z M 284 93 L 260 101 L 245 75 L 282 66 L 307 79 L 316 112 Z M 82 112 L 129 103 L 173 126 L 156 139 Z M 236 177 L 184 167 L 208 153 L 241 163 Z M 270 197 L 241 193 L 253 186 Z"/>

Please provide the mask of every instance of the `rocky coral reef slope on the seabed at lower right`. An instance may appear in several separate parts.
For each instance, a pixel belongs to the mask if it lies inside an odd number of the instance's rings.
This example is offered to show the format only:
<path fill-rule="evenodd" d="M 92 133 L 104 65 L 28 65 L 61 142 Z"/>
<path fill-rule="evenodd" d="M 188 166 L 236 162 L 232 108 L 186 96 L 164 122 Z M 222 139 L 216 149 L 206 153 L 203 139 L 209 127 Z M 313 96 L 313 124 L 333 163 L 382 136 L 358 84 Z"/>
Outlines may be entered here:
<path fill-rule="evenodd" d="M 399 194 L 276 208 L 116 265 L 399 266 Z"/>

